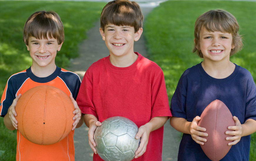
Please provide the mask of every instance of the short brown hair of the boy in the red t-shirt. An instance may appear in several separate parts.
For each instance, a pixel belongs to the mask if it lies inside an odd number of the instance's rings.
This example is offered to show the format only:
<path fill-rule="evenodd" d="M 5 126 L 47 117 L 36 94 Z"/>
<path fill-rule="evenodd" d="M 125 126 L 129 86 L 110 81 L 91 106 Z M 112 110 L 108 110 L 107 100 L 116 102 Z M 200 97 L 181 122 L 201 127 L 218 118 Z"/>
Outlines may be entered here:
<path fill-rule="evenodd" d="M 114 0 L 108 2 L 101 12 L 101 29 L 108 24 L 132 26 L 135 32 L 142 27 L 143 14 L 137 2 Z"/>

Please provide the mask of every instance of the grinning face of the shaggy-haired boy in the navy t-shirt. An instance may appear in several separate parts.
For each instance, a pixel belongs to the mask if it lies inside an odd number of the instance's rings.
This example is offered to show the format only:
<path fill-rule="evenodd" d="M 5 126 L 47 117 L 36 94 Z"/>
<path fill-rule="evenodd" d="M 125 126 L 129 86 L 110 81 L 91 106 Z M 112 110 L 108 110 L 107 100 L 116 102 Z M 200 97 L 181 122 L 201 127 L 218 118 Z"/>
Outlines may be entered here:
<path fill-rule="evenodd" d="M 220 31 L 211 32 L 201 28 L 200 50 L 203 53 L 204 60 L 221 61 L 230 58 L 232 46 L 232 34 Z"/>

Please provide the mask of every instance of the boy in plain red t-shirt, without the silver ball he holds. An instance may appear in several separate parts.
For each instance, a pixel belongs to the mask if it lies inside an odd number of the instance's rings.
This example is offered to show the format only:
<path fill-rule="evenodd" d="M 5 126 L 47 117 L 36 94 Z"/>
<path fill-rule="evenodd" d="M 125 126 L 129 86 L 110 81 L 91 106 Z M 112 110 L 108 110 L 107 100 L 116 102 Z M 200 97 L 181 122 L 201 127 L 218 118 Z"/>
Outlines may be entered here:
<path fill-rule="evenodd" d="M 135 138 L 141 140 L 134 160 L 162 160 L 163 125 L 171 113 L 163 71 L 133 51 L 142 22 L 140 6 L 127 0 L 109 2 L 101 13 L 100 33 L 110 55 L 88 68 L 76 100 L 89 127 L 94 161 L 102 160 L 94 132 L 113 116 L 126 117 L 139 127 Z"/>

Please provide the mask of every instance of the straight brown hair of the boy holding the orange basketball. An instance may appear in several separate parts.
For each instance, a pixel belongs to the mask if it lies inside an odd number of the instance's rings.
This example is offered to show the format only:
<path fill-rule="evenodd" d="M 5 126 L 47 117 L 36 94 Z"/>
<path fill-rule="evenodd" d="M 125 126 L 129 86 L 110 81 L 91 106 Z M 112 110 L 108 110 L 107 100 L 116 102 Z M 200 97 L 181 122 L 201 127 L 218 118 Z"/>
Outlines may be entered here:
<path fill-rule="evenodd" d="M 61 18 L 54 11 L 38 11 L 33 13 L 24 25 L 23 40 L 29 44 L 29 37 L 36 39 L 57 39 L 58 44 L 64 41 L 64 27 Z"/>

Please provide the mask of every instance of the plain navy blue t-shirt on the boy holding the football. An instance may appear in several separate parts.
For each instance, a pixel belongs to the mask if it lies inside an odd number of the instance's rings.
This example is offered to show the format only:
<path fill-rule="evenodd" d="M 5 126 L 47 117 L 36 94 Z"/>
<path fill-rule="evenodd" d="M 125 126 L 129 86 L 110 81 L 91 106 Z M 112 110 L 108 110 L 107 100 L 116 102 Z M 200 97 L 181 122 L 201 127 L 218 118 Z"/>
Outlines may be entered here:
<path fill-rule="evenodd" d="M 185 70 L 171 99 L 171 113 L 174 117 L 192 122 L 216 99 L 225 103 L 232 116 L 238 117 L 241 124 L 247 119 L 256 120 L 255 82 L 248 70 L 236 64 L 234 72 L 224 79 L 208 75 L 201 63 Z M 221 161 L 247 161 L 249 152 L 250 135 L 242 137 L 233 145 Z M 210 161 L 190 134 L 183 134 L 178 160 Z"/>

